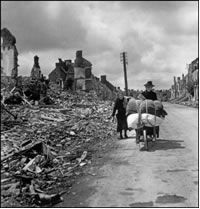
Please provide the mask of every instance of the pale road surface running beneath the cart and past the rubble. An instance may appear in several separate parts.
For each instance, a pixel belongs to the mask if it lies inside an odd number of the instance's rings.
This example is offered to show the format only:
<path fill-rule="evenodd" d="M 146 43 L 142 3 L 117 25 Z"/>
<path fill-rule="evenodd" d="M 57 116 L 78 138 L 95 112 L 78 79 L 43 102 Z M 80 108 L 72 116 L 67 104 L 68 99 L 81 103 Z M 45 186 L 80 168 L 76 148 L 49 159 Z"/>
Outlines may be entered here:
<path fill-rule="evenodd" d="M 198 110 L 164 104 L 168 116 L 149 152 L 135 137 L 90 168 L 56 207 L 197 207 Z"/>

